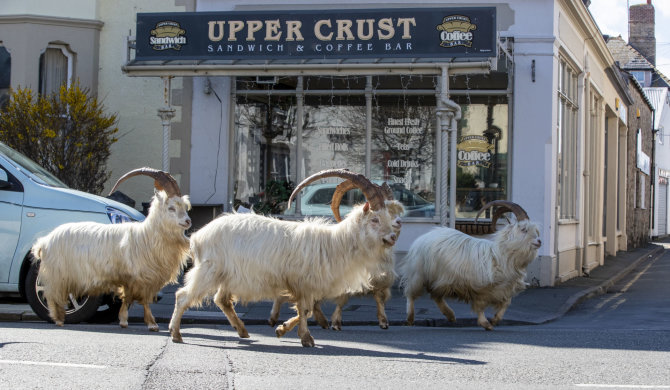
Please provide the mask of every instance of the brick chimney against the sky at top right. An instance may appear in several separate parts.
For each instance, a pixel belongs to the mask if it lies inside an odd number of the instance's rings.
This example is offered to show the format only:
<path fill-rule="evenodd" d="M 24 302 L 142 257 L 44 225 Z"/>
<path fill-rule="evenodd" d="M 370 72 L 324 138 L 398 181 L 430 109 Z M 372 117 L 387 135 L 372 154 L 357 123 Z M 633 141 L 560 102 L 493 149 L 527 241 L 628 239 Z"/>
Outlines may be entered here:
<path fill-rule="evenodd" d="M 628 43 L 656 65 L 656 22 L 651 0 L 647 4 L 631 5 L 628 9 Z"/>

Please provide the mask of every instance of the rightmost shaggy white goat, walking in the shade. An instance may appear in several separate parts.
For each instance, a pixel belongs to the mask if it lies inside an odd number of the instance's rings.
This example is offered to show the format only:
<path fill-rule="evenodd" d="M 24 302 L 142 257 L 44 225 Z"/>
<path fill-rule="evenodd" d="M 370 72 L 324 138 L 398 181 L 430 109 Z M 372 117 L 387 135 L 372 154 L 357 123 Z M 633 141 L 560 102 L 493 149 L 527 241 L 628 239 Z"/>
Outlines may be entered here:
<path fill-rule="evenodd" d="M 526 212 L 512 202 L 490 202 L 480 213 L 493 206 L 514 212 L 517 221 L 496 232 L 491 240 L 440 227 L 411 245 L 399 268 L 409 325 L 414 323 L 414 300 L 425 289 L 449 321 L 456 317 L 444 299 L 456 298 L 470 303 L 477 314 L 477 324 L 493 330 L 512 297 L 525 288 L 526 268 L 542 244 L 540 231 L 528 220 Z M 499 211 L 496 216 L 502 214 Z M 484 315 L 488 306 L 496 310 L 491 322 Z"/>

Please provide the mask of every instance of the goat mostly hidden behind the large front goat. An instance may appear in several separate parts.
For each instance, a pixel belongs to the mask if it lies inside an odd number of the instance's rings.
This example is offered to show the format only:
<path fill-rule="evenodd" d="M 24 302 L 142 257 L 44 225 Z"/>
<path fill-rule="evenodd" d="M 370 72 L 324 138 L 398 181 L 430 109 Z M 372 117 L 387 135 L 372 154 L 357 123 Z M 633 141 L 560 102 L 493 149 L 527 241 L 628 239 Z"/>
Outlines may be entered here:
<path fill-rule="evenodd" d="M 333 214 L 337 222 L 342 222 L 342 217 L 340 216 L 339 211 L 342 196 L 353 188 L 355 188 L 354 184 L 347 180 L 340 183 L 333 193 L 331 209 L 333 210 Z M 400 216 L 404 213 L 405 210 L 400 202 L 393 200 L 392 192 L 388 192 L 386 194 L 386 208 L 388 209 L 391 216 L 395 217 L 393 229 L 397 235 L 400 235 L 400 229 L 402 227 Z M 365 288 L 361 293 L 356 294 L 373 295 L 375 302 L 377 303 L 377 319 L 379 321 L 379 327 L 382 329 L 388 329 L 388 318 L 386 317 L 385 305 L 386 301 L 388 301 L 388 299 L 391 297 L 391 286 L 397 277 L 394 270 L 394 264 L 395 261 L 393 259 L 393 248 L 386 248 L 384 251 L 384 256 L 380 259 L 377 268 L 375 268 L 368 276 L 369 288 Z M 351 293 L 344 293 L 334 299 L 335 310 L 331 316 L 331 326 L 333 330 L 342 330 L 342 308 L 347 304 L 349 298 L 352 295 L 353 294 Z M 272 304 L 272 311 L 270 312 L 270 318 L 268 319 L 270 326 L 275 326 L 279 321 L 279 311 L 281 305 L 285 302 L 288 302 L 288 297 L 286 296 L 279 297 L 274 300 Z M 321 311 L 320 302 L 317 302 L 314 305 L 314 318 L 322 328 L 328 328 L 328 320 Z"/>

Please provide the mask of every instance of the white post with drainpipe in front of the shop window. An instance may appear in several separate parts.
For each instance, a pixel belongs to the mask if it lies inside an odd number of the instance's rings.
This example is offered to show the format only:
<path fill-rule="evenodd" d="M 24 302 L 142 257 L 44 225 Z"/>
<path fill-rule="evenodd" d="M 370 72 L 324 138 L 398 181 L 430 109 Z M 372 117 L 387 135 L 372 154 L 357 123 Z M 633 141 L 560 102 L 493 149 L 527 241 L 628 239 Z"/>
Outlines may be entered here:
<path fill-rule="evenodd" d="M 449 65 L 441 66 L 440 98 L 437 101 L 437 117 L 440 124 L 440 224 L 450 228 L 456 227 L 456 134 L 458 120 L 461 119 L 461 107 L 449 99 Z M 451 147 L 448 148 L 448 143 Z M 449 155 L 447 157 L 447 154 Z M 447 169 L 448 167 L 448 169 Z M 447 176 L 449 182 L 447 184 Z M 449 194 L 447 195 L 447 190 Z M 448 196 L 448 199 L 447 199 Z M 447 213 L 447 205 L 449 211 Z M 448 218 L 448 224 L 447 224 Z"/>

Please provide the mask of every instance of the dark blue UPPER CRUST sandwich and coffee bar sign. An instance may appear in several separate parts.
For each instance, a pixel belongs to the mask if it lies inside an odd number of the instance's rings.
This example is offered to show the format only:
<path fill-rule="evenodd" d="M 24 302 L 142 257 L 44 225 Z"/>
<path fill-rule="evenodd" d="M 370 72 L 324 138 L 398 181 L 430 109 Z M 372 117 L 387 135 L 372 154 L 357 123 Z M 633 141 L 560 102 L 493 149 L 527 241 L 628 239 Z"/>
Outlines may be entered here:
<path fill-rule="evenodd" d="M 495 56 L 495 7 L 138 13 L 136 60 Z"/>

